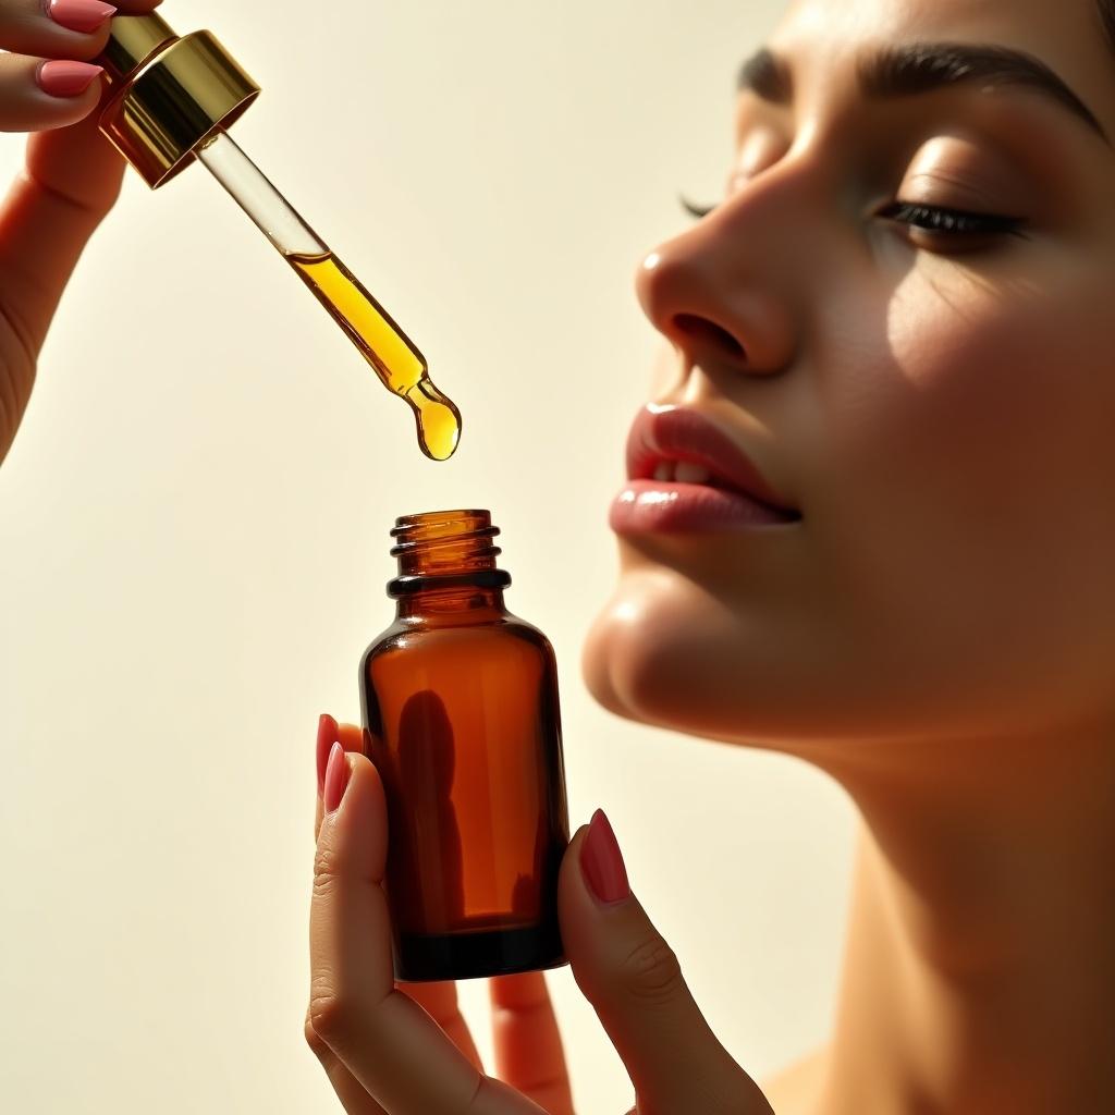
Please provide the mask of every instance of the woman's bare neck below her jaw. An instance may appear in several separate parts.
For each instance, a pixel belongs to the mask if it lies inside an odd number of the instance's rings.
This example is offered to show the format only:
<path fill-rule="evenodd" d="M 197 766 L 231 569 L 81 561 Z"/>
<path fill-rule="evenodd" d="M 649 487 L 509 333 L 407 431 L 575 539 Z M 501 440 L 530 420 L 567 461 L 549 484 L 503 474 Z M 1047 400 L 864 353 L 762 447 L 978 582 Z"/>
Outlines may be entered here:
<path fill-rule="evenodd" d="M 821 1109 L 1115 1111 L 1109 735 L 820 765 L 863 818 Z"/>

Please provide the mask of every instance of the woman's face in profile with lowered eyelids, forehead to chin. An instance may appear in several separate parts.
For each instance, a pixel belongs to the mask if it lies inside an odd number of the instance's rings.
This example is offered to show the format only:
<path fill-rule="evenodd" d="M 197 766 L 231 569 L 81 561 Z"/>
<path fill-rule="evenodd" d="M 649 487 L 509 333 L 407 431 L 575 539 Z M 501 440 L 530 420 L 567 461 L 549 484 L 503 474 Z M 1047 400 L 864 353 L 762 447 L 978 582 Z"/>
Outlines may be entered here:
<path fill-rule="evenodd" d="M 726 198 L 637 282 L 671 342 L 655 407 L 709 419 L 802 518 L 710 526 L 656 511 L 688 489 L 631 486 L 591 689 L 784 748 L 1115 720 L 1115 52 L 1094 0 L 803 0 L 769 49 Z"/>

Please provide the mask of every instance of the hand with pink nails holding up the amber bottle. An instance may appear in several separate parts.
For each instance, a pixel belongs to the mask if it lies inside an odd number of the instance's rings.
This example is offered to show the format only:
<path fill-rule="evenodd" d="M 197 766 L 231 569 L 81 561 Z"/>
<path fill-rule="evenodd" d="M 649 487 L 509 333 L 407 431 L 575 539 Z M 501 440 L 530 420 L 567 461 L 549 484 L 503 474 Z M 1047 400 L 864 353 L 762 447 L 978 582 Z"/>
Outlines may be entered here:
<path fill-rule="evenodd" d="M 332 748 L 340 740 L 340 748 Z M 327 770 L 326 756 L 336 750 Z M 452 983 L 392 978 L 381 886 L 384 787 L 359 728 L 322 718 L 306 1037 L 349 1115 L 571 1115 L 561 1039 L 539 972 L 491 981 L 496 1067 L 484 1074 Z M 322 784 L 330 805 L 324 812 Z M 558 884 L 565 952 L 636 1090 L 639 1115 L 772 1115 L 694 1002 L 627 885 L 603 814 L 573 836 Z M 601 895 L 602 896 L 599 896 Z"/>

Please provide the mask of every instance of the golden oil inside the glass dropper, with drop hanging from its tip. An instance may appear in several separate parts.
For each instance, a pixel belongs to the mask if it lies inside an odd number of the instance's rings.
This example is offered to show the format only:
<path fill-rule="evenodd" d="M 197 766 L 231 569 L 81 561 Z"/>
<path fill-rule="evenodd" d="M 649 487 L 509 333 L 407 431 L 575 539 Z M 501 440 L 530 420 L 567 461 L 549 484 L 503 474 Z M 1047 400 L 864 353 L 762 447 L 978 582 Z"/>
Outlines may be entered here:
<path fill-rule="evenodd" d="M 460 439 L 460 413 L 434 386 L 426 358 L 410 338 L 332 252 L 291 254 L 287 262 L 375 368 L 384 386 L 410 404 L 423 453 L 434 460 L 448 460 Z"/>

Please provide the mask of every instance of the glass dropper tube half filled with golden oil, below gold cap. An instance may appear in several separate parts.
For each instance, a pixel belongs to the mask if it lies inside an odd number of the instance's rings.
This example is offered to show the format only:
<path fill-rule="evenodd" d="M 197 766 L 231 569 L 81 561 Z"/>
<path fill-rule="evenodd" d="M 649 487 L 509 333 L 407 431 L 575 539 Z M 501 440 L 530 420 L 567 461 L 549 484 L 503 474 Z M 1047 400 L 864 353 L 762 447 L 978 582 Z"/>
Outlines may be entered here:
<path fill-rule="evenodd" d="M 410 405 L 423 452 L 435 460 L 453 456 L 460 414 L 434 386 L 426 358 L 387 311 L 227 132 L 217 129 L 197 148 L 197 158 L 313 291 L 384 386 Z"/>

